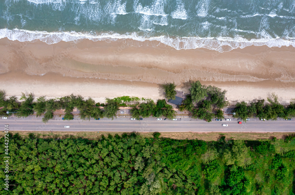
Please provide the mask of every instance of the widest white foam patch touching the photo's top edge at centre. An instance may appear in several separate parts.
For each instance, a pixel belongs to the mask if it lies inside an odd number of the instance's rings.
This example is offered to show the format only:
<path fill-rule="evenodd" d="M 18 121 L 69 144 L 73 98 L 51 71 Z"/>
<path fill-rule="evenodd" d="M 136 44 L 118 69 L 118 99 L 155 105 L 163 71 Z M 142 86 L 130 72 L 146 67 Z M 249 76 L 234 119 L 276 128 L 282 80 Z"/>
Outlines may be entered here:
<path fill-rule="evenodd" d="M 135 5 L 137 2 L 135 2 Z M 167 16 L 164 12 L 164 1 L 156 0 L 150 6 L 142 7 L 142 4 L 137 4 L 134 7 L 136 13 L 145 14 L 145 15 L 155 15 L 155 16 Z"/>

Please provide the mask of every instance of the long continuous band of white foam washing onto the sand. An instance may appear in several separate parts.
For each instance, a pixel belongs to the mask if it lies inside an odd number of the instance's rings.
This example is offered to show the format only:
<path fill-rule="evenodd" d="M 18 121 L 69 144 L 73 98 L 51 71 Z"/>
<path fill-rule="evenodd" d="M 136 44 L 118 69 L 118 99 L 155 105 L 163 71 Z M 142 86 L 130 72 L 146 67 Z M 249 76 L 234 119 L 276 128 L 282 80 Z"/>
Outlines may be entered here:
<path fill-rule="evenodd" d="M 148 29 L 146 29 L 148 30 Z M 19 29 L 0 29 L 0 38 L 7 37 L 9 40 L 18 40 L 21 42 L 36 40 L 41 40 L 47 44 L 53 44 L 60 41 L 78 41 L 83 39 L 89 39 L 93 41 L 101 40 L 124 40 L 124 39 L 133 39 L 140 42 L 145 40 L 150 41 L 159 41 L 165 45 L 174 47 L 177 50 L 180 49 L 196 49 L 196 48 L 207 48 L 210 50 L 217 50 L 219 52 L 230 51 L 235 48 L 244 48 L 250 45 L 262 46 L 267 45 L 268 47 L 281 47 L 281 46 L 293 46 L 295 47 L 295 38 L 293 37 L 280 37 L 280 38 L 261 38 L 261 39 L 252 39 L 246 40 L 242 37 L 216 37 L 216 38 L 201 38 L 201 37 L 169 37 L 169 36 L 159 36 L 159 37 L 140 37 L 135 32 L 120 35 L 118 33 L 102 33 L 100 35 L 91 35 L 90 33 L 81 33 L 81 32 L 43 32 L 43 31 L 28 31 L 28 30 L 19 30 Z M 137 44 L 137 45 L 134 45 Z M 143 44 L 143 43 L 142 43 Z M 146 44 L 146 43 L 145 43 Z M 132 42 L 130 46 L 140 46 L 139 43 Z M 156 46 L 154 43 L 151 43 L 149 46 Z M 225 46 L 225 47 L 224 47 Z"/>

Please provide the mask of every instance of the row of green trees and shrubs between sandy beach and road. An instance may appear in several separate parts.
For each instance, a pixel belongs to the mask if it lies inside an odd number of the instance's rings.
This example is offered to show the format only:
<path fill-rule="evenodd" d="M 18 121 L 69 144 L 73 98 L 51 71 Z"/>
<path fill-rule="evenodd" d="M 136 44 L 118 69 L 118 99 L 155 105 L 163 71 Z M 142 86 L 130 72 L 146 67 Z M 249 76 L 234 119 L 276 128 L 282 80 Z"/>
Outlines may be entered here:
<path fill-rule="evenodd" d="M 175 83 L 166 83 L 162 85 L 167 100 L 175 99 Z M 204 119 L 211 122 L 212 119 L 224 119 L 223 108 L 228 106 L 225 100 L 227 91 L 222 91 L 215 86 L 201 85 L 200 81 L 192 82 L 189 88 L 190 94 L 186 95 L 182 104 L 178 106 L 180 112 L 188 111 L 194 119 Z M 111 118 L 117 117 L 120 106 L 132 107 L 131 114 L 133 118 L 140 117 L 166 117 L 174 118 L 176 111 L 166 103 L 165 100 L 158 100 L 156 103 L 152 99 L 122 96 L 114 99 L 106 99 L 106 103 L 100 104 L 89 98 L 85 100 L 82 96 L 65 96 L 55 99 L 46 99 L 39 97 L 34 101 L 34 94 L 22 94 L 19 102 L 15 96 L 6 99 L 5 91 L 0 90 L 0 115 L 9 116 L 15 113 L 17 117 L 28 117 L 36 114 L 37 117 L 43 117 L 43 122 L 53 119 L 53 112 L 64 109 L 65 120 L 73 119 L 73 109 L 80 111 L 81 119 L 90 120 L 91 118 Z M 103 108 L 99 108 L 99 106 Z M 6 112 L 9 114 L 6 114 Z M 233 117 L 240 118 L 246 122 L 247 118 L 258 117 L 266 120 L 276 120 L 277 118 L 288 119 L 295 117 L 295 100 L 291 101 L 289 106 L 285 107 L 278 102 L 278 96 L 272 94 L 271 97 L 257 100 L 247 105 L 245 101 L 238 102 L 233 110 Z"/>

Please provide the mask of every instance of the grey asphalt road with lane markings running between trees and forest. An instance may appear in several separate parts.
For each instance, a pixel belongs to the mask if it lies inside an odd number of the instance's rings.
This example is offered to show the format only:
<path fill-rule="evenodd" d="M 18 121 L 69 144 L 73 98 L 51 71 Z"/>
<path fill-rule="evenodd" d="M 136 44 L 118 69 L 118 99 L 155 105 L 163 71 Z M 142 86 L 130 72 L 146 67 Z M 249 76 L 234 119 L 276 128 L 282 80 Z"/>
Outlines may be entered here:
<path fill-rule="evenodd" d="M 295 132 L 295 120 L 286 121 L 260 121 L 250 119 L 248 122 L 238 124 L 237 119 L 231 121 L 195 120 L 191 118 L 177 118 L 176 121 L 169 119 L 157 121 L 155 118 L 143 120 L 130 120 L 130 118 L 100 119 L 82 121 L 75 118 L 72 121 L 64 121 L 61 117 L 48 121 L 46 124 L 42 119 L 36 117 L 8 119 L 0 118 L 0 127 L 8 124 L 9 131 L 113 131 L 113 132 Z M 228 124 L 222 127 L 222 124 Z M 65 128 L 70 126 L 70 128 Z"/>

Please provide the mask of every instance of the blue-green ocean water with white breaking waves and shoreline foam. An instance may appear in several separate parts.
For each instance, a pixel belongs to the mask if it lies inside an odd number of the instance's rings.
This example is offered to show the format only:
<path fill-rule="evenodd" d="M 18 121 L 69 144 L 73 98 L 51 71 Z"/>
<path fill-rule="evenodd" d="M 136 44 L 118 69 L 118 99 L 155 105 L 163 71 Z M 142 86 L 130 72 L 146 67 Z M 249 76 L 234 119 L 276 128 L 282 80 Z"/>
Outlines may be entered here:
<path fill-rule="evenodd" d="M 0 38 L 157 40 L 177 50 L 295 47 L 295 0 L 1 0 Z"/>

